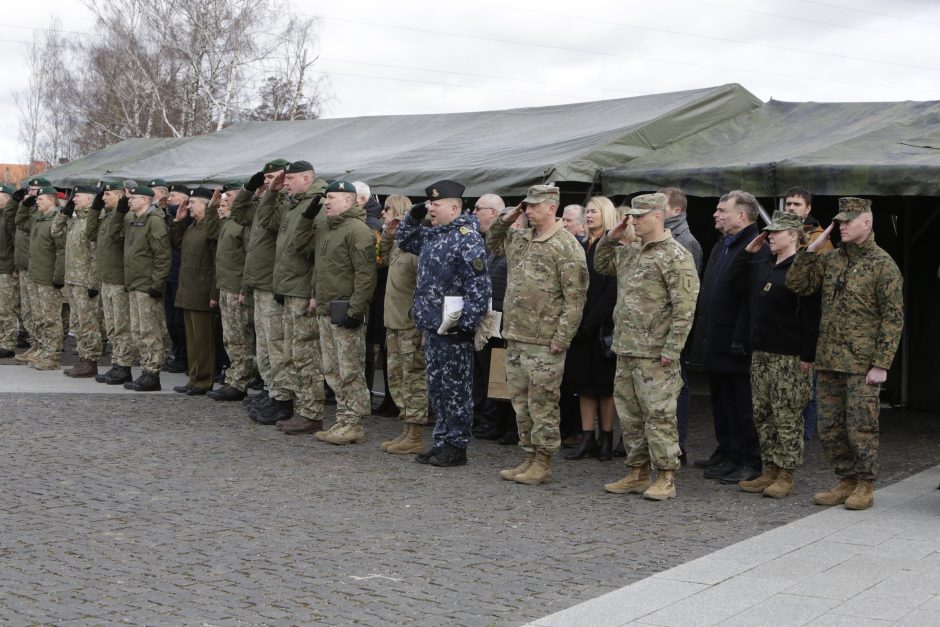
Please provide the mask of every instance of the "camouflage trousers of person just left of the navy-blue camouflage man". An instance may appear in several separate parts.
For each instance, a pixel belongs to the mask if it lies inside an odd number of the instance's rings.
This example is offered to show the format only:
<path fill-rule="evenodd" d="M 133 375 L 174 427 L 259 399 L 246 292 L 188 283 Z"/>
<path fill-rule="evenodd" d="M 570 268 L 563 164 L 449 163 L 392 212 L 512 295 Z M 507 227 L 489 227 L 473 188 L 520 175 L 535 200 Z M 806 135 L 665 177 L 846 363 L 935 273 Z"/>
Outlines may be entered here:
<path fill-rule="evenodd" d="M 428 379 L 421 347 L 421 331 L 386 329 L 388 387 L 409 424 L 424 424 L 428 416 Z"/>

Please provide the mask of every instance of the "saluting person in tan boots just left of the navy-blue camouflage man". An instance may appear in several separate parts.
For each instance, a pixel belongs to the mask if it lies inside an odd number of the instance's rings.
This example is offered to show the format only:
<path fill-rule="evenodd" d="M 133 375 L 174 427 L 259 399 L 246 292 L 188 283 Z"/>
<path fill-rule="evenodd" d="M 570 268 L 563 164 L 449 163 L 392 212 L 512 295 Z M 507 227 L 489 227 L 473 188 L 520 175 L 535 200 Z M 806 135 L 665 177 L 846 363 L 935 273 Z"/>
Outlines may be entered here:
<path fill-rule="evenodd" d="M 382 211 L 379 263 L 388 267 L 385 286 L 385 343 L 388 350 L 388 387 L 401 408 L 404 429 L 394 440 L 382 442 L 387 453 L 406 455 L 424 451 L 422 425 L 427 420 L 428 383 L 421 331 L 415 328 L 414 303 L 418 257 L 395 242 L 398 224 L 411 209 L 407 196 L 389 196 Z"/>

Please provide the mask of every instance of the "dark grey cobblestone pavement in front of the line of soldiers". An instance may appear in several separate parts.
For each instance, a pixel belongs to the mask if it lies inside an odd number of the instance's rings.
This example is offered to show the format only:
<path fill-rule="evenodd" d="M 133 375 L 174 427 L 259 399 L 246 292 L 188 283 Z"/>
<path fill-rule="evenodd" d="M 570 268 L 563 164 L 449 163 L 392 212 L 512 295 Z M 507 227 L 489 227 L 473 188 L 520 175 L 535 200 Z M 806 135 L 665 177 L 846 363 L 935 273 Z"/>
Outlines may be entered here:
<path fill-rule="evenodd" d="M 695 398 L 691 456 L 709 452 Z M 603 492 L 616 460 L 502 481 L 334 447 L 205 398 L 0 394 L 0 622 L 518 625 L 818 511 L 818 444 L 783 501 L 683 469 L 665 503 Z M 885 411 L 880 483 L 940 463 L 936 417 Z"/>

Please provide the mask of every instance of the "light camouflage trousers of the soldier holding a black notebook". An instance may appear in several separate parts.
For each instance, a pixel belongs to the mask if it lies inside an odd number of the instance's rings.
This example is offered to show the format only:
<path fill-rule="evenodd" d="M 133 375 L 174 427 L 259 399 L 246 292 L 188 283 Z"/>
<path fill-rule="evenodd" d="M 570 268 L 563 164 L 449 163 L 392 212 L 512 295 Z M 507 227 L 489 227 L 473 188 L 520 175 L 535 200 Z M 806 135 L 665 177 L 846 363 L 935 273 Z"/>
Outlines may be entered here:
<path fill-rule="evenodd" d="M 336 422 L 360 425 L 372 413 L 366 386 L 366 327 L 347 329 L 317 316 L 320 324 L 320 355 L 323 375 L 336 393 Z"/>

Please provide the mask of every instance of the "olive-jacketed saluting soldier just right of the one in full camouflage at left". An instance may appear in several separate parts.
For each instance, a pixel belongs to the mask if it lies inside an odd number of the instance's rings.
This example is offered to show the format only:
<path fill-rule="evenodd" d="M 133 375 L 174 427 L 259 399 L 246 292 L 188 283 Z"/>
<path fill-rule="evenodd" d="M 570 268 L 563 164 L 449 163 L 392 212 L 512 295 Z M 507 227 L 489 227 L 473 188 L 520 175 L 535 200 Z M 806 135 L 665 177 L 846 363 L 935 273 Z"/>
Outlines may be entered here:
<path fill-rule="evenodd" d="M 122 182 L 102 182 L 85 219 L 86 237 L 96 243 L 101 308 L 105 332 L 111 342 L 111 369 L 96 376 L 95 381 L 108 385 L 122 385 L 132 380 L 131 364 L 136 353 L 131 342 L 130 304 L 124 287 L 125 213 L 117 211 L 123 197 Z"/>

